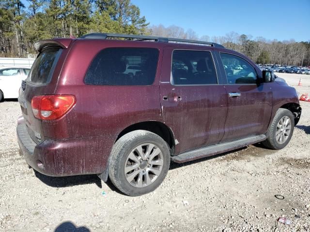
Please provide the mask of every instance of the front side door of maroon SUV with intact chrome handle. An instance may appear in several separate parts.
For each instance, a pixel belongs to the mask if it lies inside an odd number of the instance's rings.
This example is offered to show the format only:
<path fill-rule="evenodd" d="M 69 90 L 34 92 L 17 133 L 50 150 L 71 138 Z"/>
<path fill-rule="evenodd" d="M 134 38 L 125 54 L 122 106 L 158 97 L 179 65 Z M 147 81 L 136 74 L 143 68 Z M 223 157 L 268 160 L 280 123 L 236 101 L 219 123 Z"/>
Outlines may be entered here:
<path fill-rule="evenodd" d="M 226 74 L 225 89 L 228 113 L 222 142 L 260 135 L 267 131 L 272 111 L 272 91 L 262 83 L 254 65 L 245 58 L 219 53 L 222 72 Z"/>

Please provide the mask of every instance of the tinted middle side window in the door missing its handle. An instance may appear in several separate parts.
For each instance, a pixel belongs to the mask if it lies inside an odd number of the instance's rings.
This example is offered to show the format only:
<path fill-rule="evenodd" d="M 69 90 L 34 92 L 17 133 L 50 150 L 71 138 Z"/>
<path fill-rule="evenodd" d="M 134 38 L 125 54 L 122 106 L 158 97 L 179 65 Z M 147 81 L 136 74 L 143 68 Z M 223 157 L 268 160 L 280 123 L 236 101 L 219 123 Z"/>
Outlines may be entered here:
<path fill-rule="evenodd" d="M 175 50 L 171 65 L 172 85 L 217 84 L 217 73 L 210 52 Z"/>

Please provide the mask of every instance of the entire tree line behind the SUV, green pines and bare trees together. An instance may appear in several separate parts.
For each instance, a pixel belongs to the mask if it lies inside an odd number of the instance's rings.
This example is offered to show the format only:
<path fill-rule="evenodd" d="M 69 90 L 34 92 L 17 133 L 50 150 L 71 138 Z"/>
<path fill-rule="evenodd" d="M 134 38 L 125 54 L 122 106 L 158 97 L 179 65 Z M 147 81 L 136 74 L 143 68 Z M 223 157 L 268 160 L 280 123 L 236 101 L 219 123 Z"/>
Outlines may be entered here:
<path fill-rule="evenodd" d="M 178 26 L 149 26 L 130 0 L 0 1 L 1 57 L 29 57 L 34 43 L 53 37 L 79 37 L 91 32 L 151 34 L 210 41 L 245 54 L 256 63 L 310 66 L 310 42 L 266 40 L 229 32 L 201 37 Z"/>

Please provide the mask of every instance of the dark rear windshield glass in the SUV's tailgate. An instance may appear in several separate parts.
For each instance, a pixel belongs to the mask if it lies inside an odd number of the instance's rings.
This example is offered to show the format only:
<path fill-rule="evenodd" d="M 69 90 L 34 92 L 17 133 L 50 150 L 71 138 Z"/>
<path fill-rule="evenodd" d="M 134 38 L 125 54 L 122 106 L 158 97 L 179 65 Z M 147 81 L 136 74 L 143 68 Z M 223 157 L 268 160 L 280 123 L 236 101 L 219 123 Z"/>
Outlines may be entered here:
<path fill-rule="evenodd" d="M 60 47 L 49 47 L 44 49 L 35 59 L 27 81 L 35 84 L 49 83 L 61 51 L 62 49 L 60 49 Z"/>

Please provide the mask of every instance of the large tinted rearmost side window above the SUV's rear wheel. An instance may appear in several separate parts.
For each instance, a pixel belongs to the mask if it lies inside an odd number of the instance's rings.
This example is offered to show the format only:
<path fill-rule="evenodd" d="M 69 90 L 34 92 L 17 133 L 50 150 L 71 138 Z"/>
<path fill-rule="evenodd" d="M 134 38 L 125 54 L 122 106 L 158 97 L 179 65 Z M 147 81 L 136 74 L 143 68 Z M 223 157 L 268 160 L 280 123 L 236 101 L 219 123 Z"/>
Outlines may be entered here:
<path fill-rule="evenodd" d="M 104 49 L 93 59 L 84 81 L 88 85 L 152 85 L 158 53 L 155 48 Z"/>

